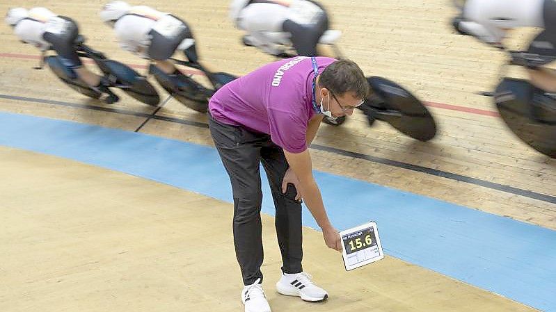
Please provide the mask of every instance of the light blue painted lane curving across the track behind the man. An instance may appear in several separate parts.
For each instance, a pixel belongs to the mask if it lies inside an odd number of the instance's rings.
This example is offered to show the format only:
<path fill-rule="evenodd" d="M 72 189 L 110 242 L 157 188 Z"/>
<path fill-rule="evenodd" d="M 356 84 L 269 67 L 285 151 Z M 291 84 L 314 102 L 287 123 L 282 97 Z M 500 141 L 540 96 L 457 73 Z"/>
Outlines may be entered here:
<path fill-rule="evenodd" d="M 228 176 L 211 147 L 9 113 L 0 113 L 0 145 L 232 202 Z M 338 229 L 375 220 L 391 256 L 556 312 L 556 231 L 344 176 L 315 176 Z M 265 186 L 263 211 L 273 215 L 269 194 Z M 303 217 L 305 225 L 316 228 L 306 209 Z"/>

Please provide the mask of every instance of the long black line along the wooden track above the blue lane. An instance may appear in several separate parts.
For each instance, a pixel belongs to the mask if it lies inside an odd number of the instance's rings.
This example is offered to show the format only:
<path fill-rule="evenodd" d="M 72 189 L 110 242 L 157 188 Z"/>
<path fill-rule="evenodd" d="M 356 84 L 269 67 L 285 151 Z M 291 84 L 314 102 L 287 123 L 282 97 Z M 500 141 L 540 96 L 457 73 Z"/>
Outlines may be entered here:
<path fill-rule="evenodd" d="M 16 100 L 16 101 L 31 101 L 31 102 L 35 102 L 35 103 L 55 104 L 55 105 L 68 106 L 68 107 L 74 107 L 74 108 L 85 108 L 85 109 L 90 109 L 90 110 L 102 110 L 102 111 L 105 111 L 105 112 L 118 113 L 118 114 L 122 114 L 122 115 L 130 115 L 130 116 L 136 116 L 136 117 L 147 117 L 148 118 L 147 120 L 150 120 L 150 119 L 162 120 L 162 121 L 165 121 L 165 122 L 175 122 L 177 124 L 186 124 L 188 126 L 198 126 L 198 127 L 201 127 L 201 128 L 208 128 L 208 124 L 205 124 L 203 122 L 193 122 L 193 121 L 190 121 L 190 120 L 182 120 L 182 119 L 173 118 L 173 117 L 164 117 L 164 116 L 154 115 L 154 114 L 157 113 L 158 110 L 156 110 L 152 114 L 146 114 L 146 113 L 134 112 L 132 110 L 124 110 L 124 109 L 120 109 L 120 108 L 106 108 L 106 107 L 91 106 L 91 105 L 86 105 L 86 104 L 78 104 L 78 103 L 71 103 L 71 102 L 65 102 L 65 101 L 55 101 L 55 100 L 49 100 L 49 99 L 37 99 L 37 98 L 33 98 L 33 97 L 17 97 L 17 96 L 13 96 L 13 95 L 2 95 L 2 94 L 0 94 L 0 99 L 13 99 L 13 100 Z M 168 99 L 166 99 L 166 101 L 168 101 Z M 147 122 L 147 120 L 145 120 L 145 122 L 143 124 L 145 124 Z M 532 198 L 532 199 L 537 199 L 537 200 L 540 200 L 542 202 L 548 202 L 548 203 L 551 203 L 551 204 L 556 204 L 556 197 L 555 196 L 546 195 L 546 194 L 542 194 L 542 193 L 539 193 L 539 192 L 533 192 L 532 190 L 523 190 L 521 188 L 514 188 L 513 186 L 505 186 L 503 184 L 484 181 L 484 180 L 481 180 L 481 179 L 472 178 L 470 176 L 463 176 L 461 174 L 454 174 L 454 173 L 451 173 L 451 172 L 445 172 L 445 171 L 442 171 L 442 170 L 432 169 L 432 168 L 429 168 L 429 167 L 422 167 L 420 165 L 412 165 L 410 163 L 402 163 L 401 161 L 393 161 L 391 159 L 380 158 L 380 157 L 370 156 L 370 155 L 366 155 L 366 154 L 360 154 L 360 153 L 356 153 L 354 151 L 346 151 L 344 149 L 337 149 L 335 147 L 327 147 L 327 146 L 324 146 L 324 145 L 315 145 L 315 144 L 313 144 L 313 145 L 311 145 L 311 148 L 312 149 L 317 149 L 319 151 L 328 151 L 328 152 L 343 155 L 343 156 L 365 159 L 366 161 L 371 161 L 373 163 L 381 163 L 383 165 L 390 165 L 390 166 L 393 166 L 393 167 L 399 167 L 399 168 L 403 168 L 403 169 L 407 169 L 407 170 L 412 170 L 412 171 L 415 171 L 415 172 L 422 172 L 422 173 L 426 173 L 426 174 L 431 174 L 433 176 L 440 176 L 440 177 L 443 177 L 443 178 L 446 178 L 446 179 L 452 179 L 452 180 L 461 181 L 461 182 L 464 182 L 464 183 L 475 184 L 476 186 L 482 186 L 484 188 L 490 188 L 492 190 L 500 190 L 502 192 L 507 192 L 507 193 L 514 194 L 514 195 L 520 195 L 520 196 L 523 196 L 523 197 L 529 197 L 529 198 Z"/>

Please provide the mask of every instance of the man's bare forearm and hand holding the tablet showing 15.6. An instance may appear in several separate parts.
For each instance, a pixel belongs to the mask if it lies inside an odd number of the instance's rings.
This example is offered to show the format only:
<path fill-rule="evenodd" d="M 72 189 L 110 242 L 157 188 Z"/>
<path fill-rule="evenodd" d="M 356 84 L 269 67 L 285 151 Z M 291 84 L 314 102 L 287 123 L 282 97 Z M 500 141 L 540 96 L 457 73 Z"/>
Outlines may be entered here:
<path fill-rule="evenodd" d="M 299 179 L 299 191 L 301 191 L 303 195 L 305 205 L 307 205 L 312 216 L 315 217 L 317 224 L 319 224 L 319 227 L 322 229 L 326 245 L 341 251 L 342 244 L 340 243 L 340 235 L 336 229 L 334 229 L 330 220 L 328 220 L 328 215 L 326 215 L 324 203 L 322 202 L 321 192 L 315 178 L 312 176 L 312 164 L 309 151 L 307 149 L 301 153 L 284 151 L 284 154 L 289 168 L 293 170 L 297 179 Z"/>

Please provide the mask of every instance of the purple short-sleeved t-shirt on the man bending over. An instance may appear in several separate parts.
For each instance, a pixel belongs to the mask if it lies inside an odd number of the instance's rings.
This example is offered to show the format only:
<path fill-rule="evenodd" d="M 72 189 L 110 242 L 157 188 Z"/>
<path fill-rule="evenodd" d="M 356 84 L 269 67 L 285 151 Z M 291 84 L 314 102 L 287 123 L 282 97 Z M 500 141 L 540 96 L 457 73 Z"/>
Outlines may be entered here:
<path fill-rule="evenodd" d="M 334 58 L 317 57 L 319 74 Z M 270 134 L 286 151 L 307 149 L 307 126 L 315 115 L 312 106 L 311 58 L 278 60 L 227 83 L 211 97 L 209 111 L 223 124 L 244 126 Z"/>

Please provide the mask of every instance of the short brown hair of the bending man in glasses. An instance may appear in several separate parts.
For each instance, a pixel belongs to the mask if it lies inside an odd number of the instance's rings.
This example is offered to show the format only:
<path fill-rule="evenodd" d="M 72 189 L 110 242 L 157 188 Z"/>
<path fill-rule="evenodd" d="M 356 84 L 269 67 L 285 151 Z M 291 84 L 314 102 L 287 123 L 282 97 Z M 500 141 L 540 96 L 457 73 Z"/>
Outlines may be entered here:
<path fill-rule="evenodd" d="M 369 95 L 369 83 L 365 74 L 353 60 L 337 60 L 328 65 L 319 76 L 319 86 L 335 95 L 354 92 L 361 99 L 366 99 Z"/>

